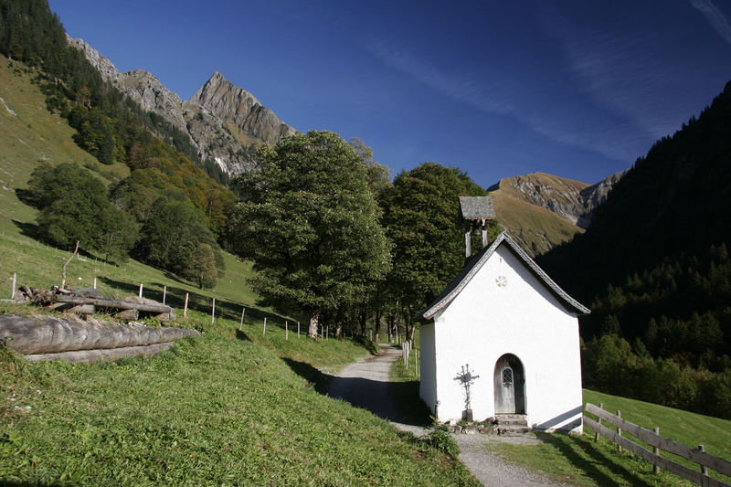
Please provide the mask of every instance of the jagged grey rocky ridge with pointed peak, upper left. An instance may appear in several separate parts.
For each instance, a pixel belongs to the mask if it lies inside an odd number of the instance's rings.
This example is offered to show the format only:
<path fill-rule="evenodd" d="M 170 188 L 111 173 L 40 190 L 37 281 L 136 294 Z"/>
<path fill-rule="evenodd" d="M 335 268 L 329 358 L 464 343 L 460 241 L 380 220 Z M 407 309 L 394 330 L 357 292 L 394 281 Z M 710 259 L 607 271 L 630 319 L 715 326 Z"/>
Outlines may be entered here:
<path fill-rule="evenodd" d="M 251 93 L 218 72 L 191 100 L 183 101 L 153 74 L 142 69 L 122 73 L 83 39 L 67 35 L 67 40 L 99 69 L 103 79 L 111 81 L 144 110 L 157 113 L 187 133 L 201 159 L 214 160 L 228 175 L 248 170 L 261 143 L 276 144 L 283 136 L 296 132 Z"/>

